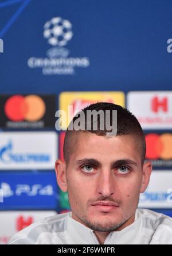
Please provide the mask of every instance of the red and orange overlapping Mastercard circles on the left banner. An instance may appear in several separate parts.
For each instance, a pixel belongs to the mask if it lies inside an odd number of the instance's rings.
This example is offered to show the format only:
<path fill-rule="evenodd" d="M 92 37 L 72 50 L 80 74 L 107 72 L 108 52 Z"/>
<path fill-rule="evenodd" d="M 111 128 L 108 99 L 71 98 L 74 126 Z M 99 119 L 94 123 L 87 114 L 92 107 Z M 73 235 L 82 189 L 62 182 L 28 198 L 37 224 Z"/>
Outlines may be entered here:
<path fill-rule="evenodd" d="M 37 95 L 14 95 L 5 103 L 5 114 L 11 121 L 38 121 L 44 116 L 46 106 L 44 100 Z"/>

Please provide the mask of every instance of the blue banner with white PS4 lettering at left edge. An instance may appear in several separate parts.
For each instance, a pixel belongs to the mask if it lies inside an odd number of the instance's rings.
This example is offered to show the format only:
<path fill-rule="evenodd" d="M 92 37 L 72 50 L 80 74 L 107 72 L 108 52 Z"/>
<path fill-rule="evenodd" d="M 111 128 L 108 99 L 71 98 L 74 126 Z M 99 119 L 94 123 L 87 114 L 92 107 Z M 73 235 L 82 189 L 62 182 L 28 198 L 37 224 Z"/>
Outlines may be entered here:
<path fill-rule="evenodd" d="M 55 171 L 1 172 L 0 189 L 0 210 L 58 208 Z"/>

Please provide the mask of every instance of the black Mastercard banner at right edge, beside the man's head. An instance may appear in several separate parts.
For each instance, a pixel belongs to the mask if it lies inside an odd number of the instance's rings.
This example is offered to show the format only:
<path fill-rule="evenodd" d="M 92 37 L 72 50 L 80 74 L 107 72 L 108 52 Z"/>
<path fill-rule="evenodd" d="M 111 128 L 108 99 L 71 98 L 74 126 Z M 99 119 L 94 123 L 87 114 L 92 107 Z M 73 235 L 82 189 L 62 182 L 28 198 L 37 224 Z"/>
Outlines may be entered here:
<path fill-rule="evenodd" d="M 149 133 L 146 138 L 146 159 L 155 168 L 172 168 L 172 133 Z"/>

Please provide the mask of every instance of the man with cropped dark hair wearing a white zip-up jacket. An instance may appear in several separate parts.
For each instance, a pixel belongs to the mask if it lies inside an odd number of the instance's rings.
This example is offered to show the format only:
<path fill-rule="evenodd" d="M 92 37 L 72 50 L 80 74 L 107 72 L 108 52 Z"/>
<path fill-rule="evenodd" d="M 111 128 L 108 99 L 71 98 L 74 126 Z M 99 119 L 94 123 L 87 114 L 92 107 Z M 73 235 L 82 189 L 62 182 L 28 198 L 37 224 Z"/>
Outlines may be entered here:
<path fill-rule="evenodd" d="M 93 118 L 91 129 L 72 130 L 81 115 L 69 125 L 65 161 L 56 161 L 56 175 L 60 189 L 68 191 L 71 213 L 32 224 L 9 244 L 172 244 L 171 218 L 137 209 L 152 170 L 144 161 L 146 142 L 138 120 L 111 103 L 92 104 L 83 113 L 93 110 L 110 111 L 111 125 L 117 111 L 117 132 L 111 136 L 100 129 L 105 115 L 97 118 L 96 130 Z M 80 122 L 89 127 L 85 116 Z"/>

